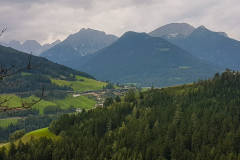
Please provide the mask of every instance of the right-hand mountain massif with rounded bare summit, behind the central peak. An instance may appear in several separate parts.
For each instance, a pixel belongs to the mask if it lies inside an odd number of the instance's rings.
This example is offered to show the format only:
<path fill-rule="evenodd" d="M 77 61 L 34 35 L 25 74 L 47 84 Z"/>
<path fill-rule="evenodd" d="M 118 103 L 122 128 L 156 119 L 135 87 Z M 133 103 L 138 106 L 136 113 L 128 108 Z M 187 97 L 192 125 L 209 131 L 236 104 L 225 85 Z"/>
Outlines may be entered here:
<path fill-rule="evenodd" d="M 166 29 L 168 28 L 168 30 Z M 150 33 L 187 50 L 197 58 L 234 70 L 240 69 L 240 42 L 225 32 L 213 32 L 204 26 L 193 28 L 185 23 L 162 26 Z"/>

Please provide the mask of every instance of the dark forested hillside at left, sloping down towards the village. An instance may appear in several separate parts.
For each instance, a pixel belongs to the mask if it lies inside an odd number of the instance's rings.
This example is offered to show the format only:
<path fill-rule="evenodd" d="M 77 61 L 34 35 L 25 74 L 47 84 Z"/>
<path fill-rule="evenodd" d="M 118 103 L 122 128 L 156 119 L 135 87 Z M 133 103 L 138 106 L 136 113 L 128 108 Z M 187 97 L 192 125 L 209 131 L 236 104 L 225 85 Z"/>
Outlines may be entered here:
<path fill-rule="evenodd" d="M 9 47 L 3 47 L 0 45 L 0 51 L 2 67 L 11 68 L 14 66 L 11 70 L 12 72 L 21 68 L 26 68 L 28 65 L 32 67 L 39 65 L 35 69 L 23 70 L 22 72 L 5 78 L 4 82 L 14 85 L 11 87 L 4 87 L 5 84 L 1 83 L 0 88 L 2 89 L 0 90 L 0 93 L 36 91 L 41 90 L 42 85 L 45 87 L 45 90 L 72 90 L 71 87 L 61 87 L 52 84 L 50 78 L 70 79 L 71 75 L 79 75 L 82 77 L 95 79 L 93 76 L 85 72 L 77 71 L 69 67 L 53 63 L 42 57 L 31 56 Z"/>

